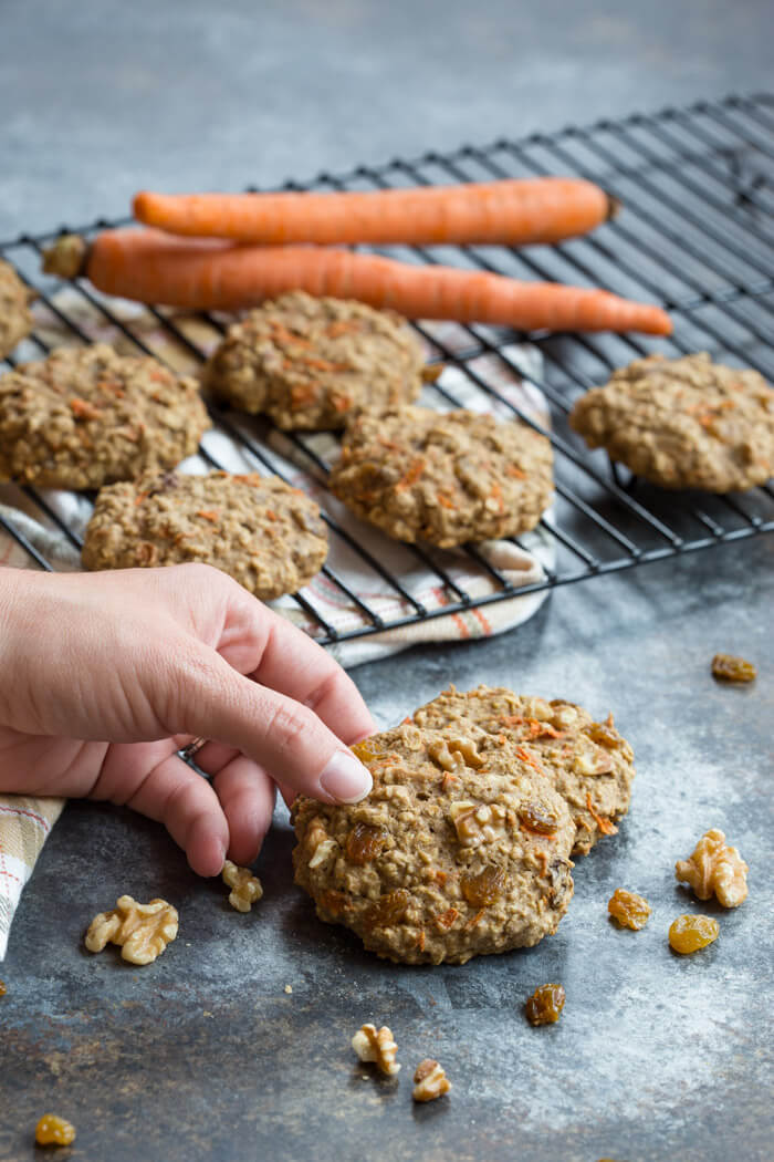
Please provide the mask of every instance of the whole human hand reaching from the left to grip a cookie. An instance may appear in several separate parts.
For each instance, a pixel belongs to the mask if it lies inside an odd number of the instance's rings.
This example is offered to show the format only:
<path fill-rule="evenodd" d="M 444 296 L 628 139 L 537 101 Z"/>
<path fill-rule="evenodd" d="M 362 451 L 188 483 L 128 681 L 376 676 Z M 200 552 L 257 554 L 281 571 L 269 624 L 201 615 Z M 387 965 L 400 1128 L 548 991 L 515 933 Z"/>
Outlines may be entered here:
<path fill-rule="evenodd" d="M 217 875 L 258 854 L 275 786 L 367 795 L 348 746 L 374 729 L 337 662 L 218 569 L 0 571 L 0 791 L 128 804 Z M 195 737 L 211 783 L 175 754 Z"/>

